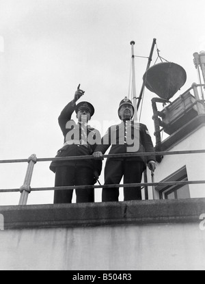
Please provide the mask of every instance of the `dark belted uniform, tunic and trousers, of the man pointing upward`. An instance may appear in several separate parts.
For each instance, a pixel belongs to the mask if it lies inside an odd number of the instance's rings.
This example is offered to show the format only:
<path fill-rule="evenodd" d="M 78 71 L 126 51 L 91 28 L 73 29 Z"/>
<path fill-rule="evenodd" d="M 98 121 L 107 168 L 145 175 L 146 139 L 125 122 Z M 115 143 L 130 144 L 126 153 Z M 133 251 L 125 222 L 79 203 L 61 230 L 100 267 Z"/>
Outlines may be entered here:
<path fill-rule="evenodd" d="M 81 138 L 92 136 L 95 140 L 96 135 L 100 133 L 86 125 L 82 127 L 81 123 L 75 123 L 71 120 L 72 113 L 76 105 L 72 102 L 68 103 L 62 110 L 59 116 L 59 126 L 64 134 L 64 146 L 59 149 L 56 157 L 70 157 L 70 156 L 83 156 L 92 155 L 96 148 L 96 144 L 89 144 Z M 71 122 L 71 123 L 70 123 Z M 72 125 L 72 127 L 69 126 Z M 72 131 L 72 135 L 69 135 Z M 83 135 L 83 131 L 87 133 Z M 82 133 L 82 135 L 81 135 Z M 77 135 L 74 135 L 77 134 Z M 68 137 L 70 137 L 68 139 Z M 76 137 L 79 137 L 77 140 Z M 72 186 L 72 185 L 94 185 L 94 171 L 100 172 L 102 170 L 102 162 L 94 161 L 93 159 L 81 159 L 72 161 L 53 161 L 51 162 L 50 169 L 55 172 L 55 186 Z M 54 203 L 71 203 L 73 190 L 55 190 Z M 94 190 L 79 189 L 76 191 L 77 203 L 94 202 Z"/>

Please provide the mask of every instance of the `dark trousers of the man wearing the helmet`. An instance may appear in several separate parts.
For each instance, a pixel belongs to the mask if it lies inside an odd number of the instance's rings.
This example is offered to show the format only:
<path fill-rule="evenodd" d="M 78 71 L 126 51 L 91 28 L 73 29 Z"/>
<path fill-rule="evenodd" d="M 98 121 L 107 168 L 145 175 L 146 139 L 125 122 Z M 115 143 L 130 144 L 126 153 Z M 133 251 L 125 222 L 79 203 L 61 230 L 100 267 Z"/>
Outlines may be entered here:
<path fill-rule="evenodd" d="M 119 184 L 124 176 L 124 183 L 141 183 L 145 164 L 139 161 L 107 160 L 105 166 L 105 185 Z M 102 190 L 102 202 L 118 201 L 119 188 Z M 124 188 L 124 201 L 141 200 L 141 187 Z"/>

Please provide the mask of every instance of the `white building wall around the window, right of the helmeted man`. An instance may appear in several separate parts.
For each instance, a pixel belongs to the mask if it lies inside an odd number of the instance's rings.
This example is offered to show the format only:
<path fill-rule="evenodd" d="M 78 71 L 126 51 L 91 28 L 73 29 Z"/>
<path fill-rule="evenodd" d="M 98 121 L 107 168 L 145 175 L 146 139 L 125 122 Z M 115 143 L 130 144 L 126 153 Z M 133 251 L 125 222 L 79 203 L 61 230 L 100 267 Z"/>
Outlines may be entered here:
<path fill-rule="evenodd" d="M 169 151 L 204 150 L 205 127 L 197 129 L 189 137 L 174 145 Z M 183 166 L 187 166 L 189 181 L 204 180 L 205 155 L 165 155 L 154 173 L 155 181 L 162 181 Z M 205 197 L 204 184 L 189 185 L 191 198 Z"/>

